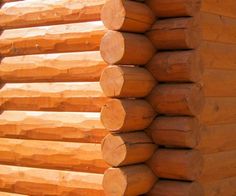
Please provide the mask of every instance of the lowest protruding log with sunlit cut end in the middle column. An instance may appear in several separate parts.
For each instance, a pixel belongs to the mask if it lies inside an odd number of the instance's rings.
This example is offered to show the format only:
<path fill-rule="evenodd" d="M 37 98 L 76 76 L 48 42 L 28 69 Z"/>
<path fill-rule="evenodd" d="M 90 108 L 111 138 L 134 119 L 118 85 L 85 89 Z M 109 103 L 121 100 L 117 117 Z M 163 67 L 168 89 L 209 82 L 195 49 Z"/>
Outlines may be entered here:
<path fill-rule="evenodd" d="M 103 188 L 109 196 L 135 196 L 147 193 L 156 176 L 146 165 L 132 165 L 108 169 L 103 178 Z"/>

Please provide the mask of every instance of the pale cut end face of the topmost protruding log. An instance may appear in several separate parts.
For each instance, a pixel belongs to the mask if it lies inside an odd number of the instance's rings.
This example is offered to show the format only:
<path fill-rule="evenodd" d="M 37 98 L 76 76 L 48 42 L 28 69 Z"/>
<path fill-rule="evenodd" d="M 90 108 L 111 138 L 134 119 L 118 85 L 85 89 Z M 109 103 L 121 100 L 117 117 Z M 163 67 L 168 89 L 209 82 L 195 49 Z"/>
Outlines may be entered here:
<path fill-rule="evenodd" d="M 124 1 L 108 0 L 102 8 L 101 19 L 109 30 L 118 31 L 124 25 L 125 15 Z"/>

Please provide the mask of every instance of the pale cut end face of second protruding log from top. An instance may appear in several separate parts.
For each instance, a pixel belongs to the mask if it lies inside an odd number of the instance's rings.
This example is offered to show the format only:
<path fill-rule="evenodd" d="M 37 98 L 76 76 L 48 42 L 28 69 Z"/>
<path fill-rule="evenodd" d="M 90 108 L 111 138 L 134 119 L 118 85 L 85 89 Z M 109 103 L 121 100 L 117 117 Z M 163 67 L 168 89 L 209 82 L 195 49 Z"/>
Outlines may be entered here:
<path fill-rule="evenodd" d="M 125 54 L 125 40 L 122 33 L 108 31 L 102 38 L 100 52 L 108 64 L 119 63 Z"/>

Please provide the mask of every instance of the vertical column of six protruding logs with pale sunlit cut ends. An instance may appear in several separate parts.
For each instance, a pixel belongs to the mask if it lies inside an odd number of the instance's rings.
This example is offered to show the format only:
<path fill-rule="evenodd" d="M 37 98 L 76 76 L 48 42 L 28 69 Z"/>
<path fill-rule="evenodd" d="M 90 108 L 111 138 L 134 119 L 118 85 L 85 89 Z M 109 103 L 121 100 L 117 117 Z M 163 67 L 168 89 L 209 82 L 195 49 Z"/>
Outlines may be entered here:
<path fill-rule="evenodd" d="M 108 32 L 100 51 L 110 66 L 102 72 L 100 84 L 111 98 L 101 111 L 101 121 L 110 131 L 102 142 L 103 159 L 111 166 L 104 174 L 104 192 L 114 196 L 146 194 L 157 179 L 145 164 L 156 145 L 143 130 L 156 112 L 144 98 L 156 80 L 142 66 L 155 53 L 144 35 L 155 16 L 143 2 L 108 0 L 101 18 Z"/>

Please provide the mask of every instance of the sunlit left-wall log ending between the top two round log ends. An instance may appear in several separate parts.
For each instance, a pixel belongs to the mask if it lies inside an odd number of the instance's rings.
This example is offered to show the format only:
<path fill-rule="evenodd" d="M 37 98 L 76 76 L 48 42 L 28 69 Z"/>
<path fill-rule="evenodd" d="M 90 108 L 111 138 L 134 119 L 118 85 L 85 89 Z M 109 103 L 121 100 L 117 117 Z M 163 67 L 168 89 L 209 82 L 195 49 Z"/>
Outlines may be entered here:
<path fill-rule="evenodd" d="M 100 21 L 4 30 L 0 55 L 98 50 L 105 32 Z"/>

